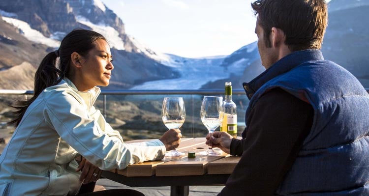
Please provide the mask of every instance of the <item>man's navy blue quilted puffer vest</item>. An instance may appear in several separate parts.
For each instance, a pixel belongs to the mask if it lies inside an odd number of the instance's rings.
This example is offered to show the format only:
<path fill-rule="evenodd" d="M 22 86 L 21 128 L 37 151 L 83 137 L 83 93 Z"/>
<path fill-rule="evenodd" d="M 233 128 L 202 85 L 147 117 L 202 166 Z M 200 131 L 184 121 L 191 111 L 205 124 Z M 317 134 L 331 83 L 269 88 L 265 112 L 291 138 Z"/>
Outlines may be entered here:
<path fill-rule="evenodd" d="M 314 109 L 311 130 L 276 195 L 369 196 L 369 95 L 351 73 L 319 50 L 305 50 L 283 57 L 244 87 L 246 119 L 272 88 Z"/>

